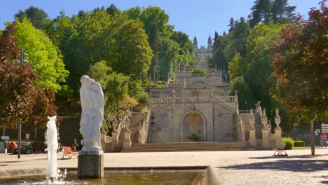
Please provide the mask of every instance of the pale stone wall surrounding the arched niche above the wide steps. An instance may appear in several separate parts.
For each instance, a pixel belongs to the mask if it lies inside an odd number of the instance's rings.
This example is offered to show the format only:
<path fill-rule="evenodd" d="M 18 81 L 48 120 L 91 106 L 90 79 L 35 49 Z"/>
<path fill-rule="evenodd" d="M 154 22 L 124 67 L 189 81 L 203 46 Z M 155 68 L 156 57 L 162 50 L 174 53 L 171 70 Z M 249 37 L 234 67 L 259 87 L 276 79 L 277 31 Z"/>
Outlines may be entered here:
<path fill-rule="evenodd" d="M 206 93 L 206 91 L 201 91 Z M 156 114 L 149 128 L 149 142 L 183 142 L 183 119 L 194 111 L 203 116 L 207 142 L 236 141 L 235 118 L 231 109 L 213 102 L 172 104 Z"/>

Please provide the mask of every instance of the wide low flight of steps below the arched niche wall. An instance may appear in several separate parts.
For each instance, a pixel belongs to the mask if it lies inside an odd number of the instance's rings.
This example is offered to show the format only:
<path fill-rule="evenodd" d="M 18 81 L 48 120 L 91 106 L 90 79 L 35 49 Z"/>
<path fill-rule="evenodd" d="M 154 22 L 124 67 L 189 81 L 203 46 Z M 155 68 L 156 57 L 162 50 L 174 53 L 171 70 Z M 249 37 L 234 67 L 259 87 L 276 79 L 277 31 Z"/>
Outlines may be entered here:
<path fill-rule="evenodd" d="M 172 152 L 172 151 L 247 151 L 256 150 L 248 142 L 175 142 L 175 143 L 132 143 L 123 152 Z"/>

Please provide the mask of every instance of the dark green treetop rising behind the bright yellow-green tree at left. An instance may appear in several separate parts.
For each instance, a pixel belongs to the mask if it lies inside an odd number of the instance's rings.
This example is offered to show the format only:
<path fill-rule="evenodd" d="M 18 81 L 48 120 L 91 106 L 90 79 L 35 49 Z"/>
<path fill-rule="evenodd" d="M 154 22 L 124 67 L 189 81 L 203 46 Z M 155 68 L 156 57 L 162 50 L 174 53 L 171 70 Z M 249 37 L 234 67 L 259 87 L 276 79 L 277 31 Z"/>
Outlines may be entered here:
<path fill-rule="evenodd" d="M 41 29 L 48 20 L 48 14 L 40 8 L 29 6 L 29 8 L 27 8 L 25 11 L 19 11 L 16 13 L 15 18 L 18 18 L 20 22 L 22 22 L 24 18 L 27 18 L 32 22 L 34 27 Z"/>

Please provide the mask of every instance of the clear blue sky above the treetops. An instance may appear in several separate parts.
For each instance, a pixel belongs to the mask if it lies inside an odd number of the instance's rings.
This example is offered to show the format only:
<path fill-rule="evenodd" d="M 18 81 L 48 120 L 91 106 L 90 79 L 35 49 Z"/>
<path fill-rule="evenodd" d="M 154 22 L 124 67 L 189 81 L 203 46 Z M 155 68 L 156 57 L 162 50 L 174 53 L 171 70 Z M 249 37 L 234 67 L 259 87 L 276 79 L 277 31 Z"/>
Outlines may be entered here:
<path fill-rule="evenodd" d="M 311 7 L 319 7 L 320 0 L 289 0 L 289 5 L 296 6 L 296 12 L 307 15 Z M 55 18 L 61 10 L 67 15 L 76 14 L 79 10 L 91 11 L 93 8 L 114 4 L 121 11 L 135 6 L 159 6 L 170 15 L 170 25 L 185 32 L 192 40 L 197 36 L 198 44 L 207 45 L 209 35 L 217 31 L 222 34 L 228 30 L 231 17 L 247 18 L 254 0 L 6 0 L 1 4 L 0 29 L 3 23 L 13 20 L 13 15 L 29 6 L 36 6 Z"/>

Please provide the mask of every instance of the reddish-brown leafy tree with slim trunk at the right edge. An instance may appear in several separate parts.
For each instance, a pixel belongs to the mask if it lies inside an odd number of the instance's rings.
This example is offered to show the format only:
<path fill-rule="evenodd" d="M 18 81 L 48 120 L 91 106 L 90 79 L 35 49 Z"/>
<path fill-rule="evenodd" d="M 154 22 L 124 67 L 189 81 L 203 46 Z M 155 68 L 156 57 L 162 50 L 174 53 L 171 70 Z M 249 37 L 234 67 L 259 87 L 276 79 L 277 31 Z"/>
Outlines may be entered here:
<path fill-rule="evenodd" d="M 311 8 L 308 20 L 289 25 L 271 46 L 277 98 L 293 114 L 310 121 L 311 154 L 315 155 L 313 122 L 328 117 L 326 0 Z"/>

